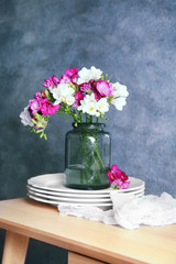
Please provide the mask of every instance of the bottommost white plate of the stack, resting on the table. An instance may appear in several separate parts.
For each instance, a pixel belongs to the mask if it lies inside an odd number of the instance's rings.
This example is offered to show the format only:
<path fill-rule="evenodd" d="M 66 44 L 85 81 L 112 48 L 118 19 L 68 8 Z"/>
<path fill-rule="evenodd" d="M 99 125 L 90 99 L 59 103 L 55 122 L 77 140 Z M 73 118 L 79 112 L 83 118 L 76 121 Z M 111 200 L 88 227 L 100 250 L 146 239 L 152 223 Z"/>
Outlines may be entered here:
<path fill-rule="evenodd" d="M 36 197 L 36 196 L 33 196 L 31 194 L 28 194 L 28 196 L 33 199 L 33 200 L 36 200 L 36 201 L 40 201 L 40 202 L 44 202 L 44 204 L 48 204 L 51 206 L 55 206 L 57 207 L 58 205 L 67 205 L 68 202 L 65 202 L 65 201 L 54 201 L 54 200 L 47 200 L 47 199 L 42 199 L 40 197 Z M 69 202 L 70 205 L 70 202 Z M 72 202 L 73 206 L 82 206 L 80 204 L 77 204 L 77 202 Z M 84 204 L 84 207 L 85 206 L 94 206 L 94 207 L 99 207 L 101 208 L 102 210 L 108 210 L 108 209 L 111 209 L 112 208 L 112 202 L 109 202 L 109 204 Z"/>

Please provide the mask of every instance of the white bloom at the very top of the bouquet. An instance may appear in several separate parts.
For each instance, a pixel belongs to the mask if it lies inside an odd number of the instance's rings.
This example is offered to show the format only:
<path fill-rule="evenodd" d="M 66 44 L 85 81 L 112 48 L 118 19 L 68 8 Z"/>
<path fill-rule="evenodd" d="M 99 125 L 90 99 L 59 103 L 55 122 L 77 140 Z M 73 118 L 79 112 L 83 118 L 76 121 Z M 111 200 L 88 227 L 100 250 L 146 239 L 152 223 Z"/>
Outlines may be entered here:
<path fill-rule="evenodd" d="M 91 66 L 90 69 L 82 68 L 81 70 L 78 72 L 78 85 L 81 85 L 84 82 L 89 82 L 89 80 L 97 80 L 101 78 L 102 72 L 100 69 L 97 69 L 95 66 Z"/>

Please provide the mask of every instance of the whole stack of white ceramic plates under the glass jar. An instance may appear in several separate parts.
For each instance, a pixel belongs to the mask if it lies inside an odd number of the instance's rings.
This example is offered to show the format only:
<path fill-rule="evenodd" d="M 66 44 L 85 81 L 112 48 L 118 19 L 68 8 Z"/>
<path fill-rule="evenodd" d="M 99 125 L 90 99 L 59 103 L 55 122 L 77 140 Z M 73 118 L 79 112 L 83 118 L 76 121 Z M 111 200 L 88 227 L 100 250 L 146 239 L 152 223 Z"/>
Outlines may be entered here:
<path fill-rule="evenodd" d="M 145 183 L 139 178 L 129 177 L 131 183 L 128 189 L 116 190 L 124 194 L 144 195 Z M 112 208 L 110 193 L 112 187 L 100 190 L 72 189 L 64 186 L 64 174 L 46 174 L 32 177 L 28 180 L 28 196 L 36 201 L 51 206 L 61 204 L 74 206 L 95 206 L 103 210 Z"/>

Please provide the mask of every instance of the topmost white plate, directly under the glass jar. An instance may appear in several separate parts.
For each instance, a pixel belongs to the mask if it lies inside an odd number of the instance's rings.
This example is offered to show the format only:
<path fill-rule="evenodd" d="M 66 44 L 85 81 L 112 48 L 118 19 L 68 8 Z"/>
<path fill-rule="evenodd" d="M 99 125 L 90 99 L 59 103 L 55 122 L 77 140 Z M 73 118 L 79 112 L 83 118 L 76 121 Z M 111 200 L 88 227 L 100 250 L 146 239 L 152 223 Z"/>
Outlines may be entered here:
<path fill-rule="evenodd" d="M 63 191 L 69 194 L 109 194 L 113 188 L 100 189 L 100 190 L 80 190 L 80 189 L 72 189 L 64 186 L 64 174 L 45 174 L 36 177 L 32 177 L 28 180 L 28 185 L 41 188 L 51 191 Z M 128 189 L 117 190 L 119 193 L 132 191 L 140 189 L 145 186 L 145 183 L 142 179 L 129 177 L 131 180 Z"/>

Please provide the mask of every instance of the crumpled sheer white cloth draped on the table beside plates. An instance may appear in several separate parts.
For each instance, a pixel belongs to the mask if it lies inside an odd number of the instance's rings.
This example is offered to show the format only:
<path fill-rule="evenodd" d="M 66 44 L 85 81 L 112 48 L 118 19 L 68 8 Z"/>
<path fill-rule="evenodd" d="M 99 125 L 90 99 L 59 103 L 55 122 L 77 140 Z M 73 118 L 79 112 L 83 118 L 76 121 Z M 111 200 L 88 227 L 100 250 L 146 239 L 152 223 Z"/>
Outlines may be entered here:
<path fill-rule="evenodd" d="M 125 229 L 136 229 L 141 224 L 166 226 L 176 223 L 176 199 L 163 193 L 141 198 L 133 194 L 111 193 L 113 208 L 103 211 L 97 207 L 59 205 L 58 210 L 64 216 L 75 216 L 107 224 L 118 224 Z"/>

